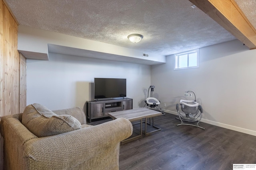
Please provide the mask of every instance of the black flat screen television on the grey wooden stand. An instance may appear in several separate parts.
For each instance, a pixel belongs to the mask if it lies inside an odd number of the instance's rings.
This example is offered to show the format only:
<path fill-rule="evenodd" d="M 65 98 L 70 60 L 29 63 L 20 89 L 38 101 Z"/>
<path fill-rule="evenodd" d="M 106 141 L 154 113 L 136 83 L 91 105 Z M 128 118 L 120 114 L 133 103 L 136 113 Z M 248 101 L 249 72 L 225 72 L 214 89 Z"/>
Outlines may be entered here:
<path fill-rule="evenodd" d="M 126 97 L 126 78 L 94 78 L 94 100 Z"/>

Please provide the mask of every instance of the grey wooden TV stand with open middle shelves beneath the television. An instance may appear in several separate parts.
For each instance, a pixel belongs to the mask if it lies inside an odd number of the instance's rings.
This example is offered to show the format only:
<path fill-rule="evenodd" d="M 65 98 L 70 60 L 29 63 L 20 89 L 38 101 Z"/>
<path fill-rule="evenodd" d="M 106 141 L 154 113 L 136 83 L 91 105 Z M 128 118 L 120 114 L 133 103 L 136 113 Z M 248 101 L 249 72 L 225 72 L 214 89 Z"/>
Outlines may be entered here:
<path fill-rule="evenodd" d="M 132 109 L 132 99 L 112 99 L 86 101 L 86 119 L 90 123 L 92 119 L 109 117 L 108 113 Z"/>

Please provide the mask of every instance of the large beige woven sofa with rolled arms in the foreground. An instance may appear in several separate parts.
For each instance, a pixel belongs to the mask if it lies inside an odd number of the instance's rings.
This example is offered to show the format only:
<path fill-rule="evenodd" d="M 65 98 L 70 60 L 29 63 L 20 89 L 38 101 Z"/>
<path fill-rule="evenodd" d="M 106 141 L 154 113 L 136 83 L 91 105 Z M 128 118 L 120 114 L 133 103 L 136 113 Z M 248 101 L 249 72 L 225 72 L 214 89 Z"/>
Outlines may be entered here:
<path fill-rule="evenodd" d="M 40 112 L 38 110 L 36 111 Z M 91 126 L 86 124 L 85 114 L 80 107 L 52 112 L 56 114 L 55 118 L 58 115 L 71 115 L 70 117 L 79 121 L 78 129 L 71 129 L 69 132 L 58 135 L 38 137 L 28 130 L 31 127 L 27 128 L 22 124 L 22 117 L 25 119 L 22 114 L 25 114 L 25 111 L 1 117 L 4 169 L 118 170 L 120 141 L 132 135 L 133 129 L 130 121 L 119 118 Z M 43 119 L 49 120 L 49 117 L 46 116 Z M 58 117 L 58 119 L 63 118 Z M 43 121 L 40 120 L 40 122 Z M 26 123 L 30 122 L 32 121 L 29 120 Z M 32 123 L 32 127 L 38 129 L 42 124 L 40 122 Z M 55 129 L 56 127 L 53 128 Z M 41 131 L 38 130 L 39 133 Z"/>

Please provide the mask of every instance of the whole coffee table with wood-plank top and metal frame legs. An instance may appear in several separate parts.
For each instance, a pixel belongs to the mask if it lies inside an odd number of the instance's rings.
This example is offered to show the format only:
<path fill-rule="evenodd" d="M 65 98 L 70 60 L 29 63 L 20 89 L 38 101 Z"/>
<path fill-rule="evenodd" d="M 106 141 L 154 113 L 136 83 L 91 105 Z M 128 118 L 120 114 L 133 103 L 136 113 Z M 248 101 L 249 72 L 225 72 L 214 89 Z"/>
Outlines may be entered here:
<path fill-rule="evenodd" d="M 108 113 L 108 115 L 110 117 L 112 117 L 112 119 L 124 117 L 124 118 L 128 119 L 130 122 L 140 121 L 140 122 L 138 122 L 138 123 L 140 123 L 140 135 L 125 139 L 124 141 L 122 141 L 122 143 L 142 137 L 142 123 L 145 123 L 145 129 L 144 129 L 145 136 L 161 130 L 159 127 L 154 126 L 154 117 L 160 116 L 160 115 L 162 115 L 162 113 L 159 111 L 152 110 L 152 109 L 147 109 L 147 108 L 143 107 L 143 108 L 124 110 L 124 111 L 110 112 L 110 113 Z M 151 125 L 151 122 L 150 123 L 147 122 L 147 118 L 153 119 L 152 127 L 156 130 L 147 132 L 147 125 Z M 145 119 L 145 121 L 142 121 L 142 119 Z M 137 124 L 137 123 L 134 123 L 134 124 Z"/>

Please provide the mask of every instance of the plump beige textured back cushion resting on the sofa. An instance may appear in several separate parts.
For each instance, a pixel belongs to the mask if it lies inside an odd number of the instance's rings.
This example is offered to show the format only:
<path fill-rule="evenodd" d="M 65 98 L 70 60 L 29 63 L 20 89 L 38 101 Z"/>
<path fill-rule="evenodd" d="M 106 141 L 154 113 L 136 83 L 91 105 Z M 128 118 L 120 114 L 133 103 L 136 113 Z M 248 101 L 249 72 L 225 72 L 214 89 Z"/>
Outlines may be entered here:
<path fill-rule="evenodd" d="M 57 115 L 41 104 L 26 106 L 22 124 L 37 137 L 58 135 L 81 129 L 81 123 L 71 115 Z"/>

